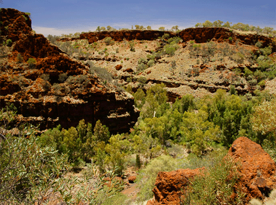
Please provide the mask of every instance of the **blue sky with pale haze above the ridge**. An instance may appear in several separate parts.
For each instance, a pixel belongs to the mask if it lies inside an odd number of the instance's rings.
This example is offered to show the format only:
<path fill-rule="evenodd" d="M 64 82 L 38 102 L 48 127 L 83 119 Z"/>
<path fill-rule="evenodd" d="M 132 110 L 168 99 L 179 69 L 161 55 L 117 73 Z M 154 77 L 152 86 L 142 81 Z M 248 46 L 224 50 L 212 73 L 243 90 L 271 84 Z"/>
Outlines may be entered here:
<path fill-rule="evenodd" d="M 31 13 L 32 29 L 45 36 L 95 31 L 108 25 L 116 29 L 178 25 L 184 29 L 206 20 L 276 29 L 276 0 L 2 0 L 0 7 Z"/>

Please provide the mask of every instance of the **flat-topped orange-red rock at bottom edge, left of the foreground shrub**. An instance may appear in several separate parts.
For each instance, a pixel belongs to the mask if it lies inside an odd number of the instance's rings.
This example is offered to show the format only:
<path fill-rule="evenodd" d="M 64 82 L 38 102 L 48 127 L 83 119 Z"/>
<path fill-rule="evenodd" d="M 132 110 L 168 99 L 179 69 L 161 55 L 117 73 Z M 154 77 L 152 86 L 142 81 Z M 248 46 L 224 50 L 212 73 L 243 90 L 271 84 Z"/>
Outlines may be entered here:
<path fill-rule="evenodd" d="M 172 172 L 159 172 L 152 190 L 154 199 L 147 202 L 147 205 L 180 203 L 180 195 L 185 193 L 185 187 L 190 184 L 190 180 L 204 172 L 204 168 L 195 170 L 185 169 Z"/>

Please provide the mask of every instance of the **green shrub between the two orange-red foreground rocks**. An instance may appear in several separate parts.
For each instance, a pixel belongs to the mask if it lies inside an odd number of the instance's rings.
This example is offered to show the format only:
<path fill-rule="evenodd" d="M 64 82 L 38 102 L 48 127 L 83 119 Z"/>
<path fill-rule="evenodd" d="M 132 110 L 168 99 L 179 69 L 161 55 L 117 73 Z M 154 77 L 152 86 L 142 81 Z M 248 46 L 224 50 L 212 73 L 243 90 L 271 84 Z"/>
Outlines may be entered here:
<path fill-rule="evenodd" d="M 215 159 L 207 174 L 194 178 L 190 185 L 191 204 L 243 204 L 245 197 L 234 184 L 239 179 L 238 166 L 231 158 Z M 232 197 L 238 192 L 237 197 Z"/>

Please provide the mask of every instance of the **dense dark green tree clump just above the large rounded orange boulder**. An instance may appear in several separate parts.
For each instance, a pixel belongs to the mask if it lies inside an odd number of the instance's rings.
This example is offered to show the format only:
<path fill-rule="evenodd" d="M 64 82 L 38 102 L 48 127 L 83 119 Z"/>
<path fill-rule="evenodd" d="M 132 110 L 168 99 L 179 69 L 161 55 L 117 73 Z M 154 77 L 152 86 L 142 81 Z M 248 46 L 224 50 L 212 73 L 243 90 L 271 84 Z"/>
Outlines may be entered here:
<path fill-rule="evenodd" d="M 241 134 L 252 134 L 249 123 L 252 103 L 236 95 L 227 96 L 224 90 L 218 90 L 212 99 L 205 98 L 201 103 L 202 109 L 208 112 L 208 120 L 220 127 L 225 146 L 230 146 Z"/>

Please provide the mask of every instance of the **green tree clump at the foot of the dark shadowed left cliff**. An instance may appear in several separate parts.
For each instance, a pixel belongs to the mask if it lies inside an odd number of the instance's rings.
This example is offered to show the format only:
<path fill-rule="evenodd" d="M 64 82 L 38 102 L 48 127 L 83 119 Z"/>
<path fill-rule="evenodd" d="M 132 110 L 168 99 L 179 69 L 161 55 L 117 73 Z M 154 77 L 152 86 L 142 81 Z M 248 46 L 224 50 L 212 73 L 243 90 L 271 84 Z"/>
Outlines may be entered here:
<path fill-rule="evenodd" d="M 109 136 L 108 128 L 100 121 L 97 121 L 93 133 L 92 125 L 80 120 L 76 128 L 61 130 L 58 126 L 43 133 L 39 139 L 43 146 L 50 143 L 59 153 L 67 154 L 69 161 L 77 166 L 82 161 L 90 161 L 97 152 L 97 142 L 108 141 Z"/>

